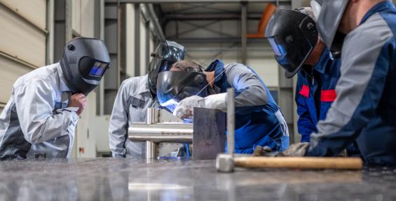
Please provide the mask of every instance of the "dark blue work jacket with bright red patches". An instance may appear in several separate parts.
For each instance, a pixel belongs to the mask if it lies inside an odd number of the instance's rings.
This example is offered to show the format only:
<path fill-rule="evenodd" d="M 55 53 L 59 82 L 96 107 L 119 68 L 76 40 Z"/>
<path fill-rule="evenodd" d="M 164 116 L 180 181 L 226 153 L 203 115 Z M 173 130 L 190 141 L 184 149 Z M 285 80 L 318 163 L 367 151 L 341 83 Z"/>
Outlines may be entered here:
<path fill-rule="evenodd" d="M 325 48 L 312 71 L 299 71 L 296 85 L 296 104 L 299 120 L 297 127 L 301 141 L 309 141 L 309 136 L 317 132 L 319 120 L 326 118 L 332 102 L 336 99 L 336 83 L 340 76 L 341 60 L 330 60 Z"/>

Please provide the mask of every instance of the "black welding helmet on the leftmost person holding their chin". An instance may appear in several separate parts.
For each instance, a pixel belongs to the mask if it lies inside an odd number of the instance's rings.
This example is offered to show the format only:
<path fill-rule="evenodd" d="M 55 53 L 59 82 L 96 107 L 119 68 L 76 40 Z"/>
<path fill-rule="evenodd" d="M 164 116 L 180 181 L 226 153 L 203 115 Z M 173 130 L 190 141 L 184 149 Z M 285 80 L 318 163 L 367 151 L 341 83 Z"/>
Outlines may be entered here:
<path fill-rule="evenodd" d="M 60 60 L 67 87 L 73 93 L 88 95 L 100 84 L 109 68 L 110 56 L 100 39 L 76 38 L 64 47 Z"/>

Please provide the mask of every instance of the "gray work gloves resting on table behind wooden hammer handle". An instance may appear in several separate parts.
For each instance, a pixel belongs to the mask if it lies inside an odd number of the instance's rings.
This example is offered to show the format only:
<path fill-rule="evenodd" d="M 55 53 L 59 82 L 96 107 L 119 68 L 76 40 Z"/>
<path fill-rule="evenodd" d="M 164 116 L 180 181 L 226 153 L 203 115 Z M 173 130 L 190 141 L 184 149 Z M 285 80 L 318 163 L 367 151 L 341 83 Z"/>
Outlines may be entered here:
<path fill-rule="evenodd" d="M 308 151 L 309 143 L 308 142 L 299 142 L 296 144 L 292 144 L 285 151 L 278 152 L 272 151 L 272 149 L 268 146 L 256 146 L 254 149 L 254 155 L 256 156 L 269 156 L 269 157 L 282 157 L 282 156 L 291 156 L 291 157 L 301 157 L 306 155 Z"/>

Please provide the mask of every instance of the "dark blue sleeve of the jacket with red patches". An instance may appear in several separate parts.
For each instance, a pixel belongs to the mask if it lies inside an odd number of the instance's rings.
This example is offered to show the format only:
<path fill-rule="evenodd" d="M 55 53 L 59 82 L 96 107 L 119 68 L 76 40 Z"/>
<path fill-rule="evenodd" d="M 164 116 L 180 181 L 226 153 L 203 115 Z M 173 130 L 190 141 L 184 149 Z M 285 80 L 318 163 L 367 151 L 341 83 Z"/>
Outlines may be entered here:
<path fill-rule="evenodd" d="M 297 78 L 296 85 L 296 105 L 297 105 L 297 114 L 299 115 L 299 119 L 297 120 L 297 128 L 299 130 L 299 134 L 301 134 L 301 142 L 309 141 L 309 135 L 315 132 L 315 124 L 310 116 L 308 105 L 306 102 L 306 97 L 299 94 L 301 88 L 303 86 L 303 77 L 300 75 Z"/>

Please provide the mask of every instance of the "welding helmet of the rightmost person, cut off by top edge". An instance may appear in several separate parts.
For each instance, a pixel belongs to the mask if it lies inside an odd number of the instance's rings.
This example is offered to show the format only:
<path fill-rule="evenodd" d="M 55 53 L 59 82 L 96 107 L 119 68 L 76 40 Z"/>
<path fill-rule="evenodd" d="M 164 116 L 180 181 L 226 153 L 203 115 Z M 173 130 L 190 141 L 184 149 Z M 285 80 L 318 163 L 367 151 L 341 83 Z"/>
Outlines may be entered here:
<path fill-rule="evenodd" d="M 318 17 L 318 32 L 329 48 L 332 58 L 341 57 L 341 48 L 346 34 L 339 32 L 339 25 L 348 0 L 323 0 Z"/>

